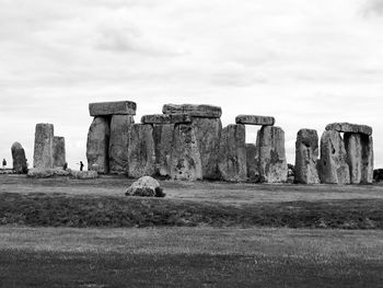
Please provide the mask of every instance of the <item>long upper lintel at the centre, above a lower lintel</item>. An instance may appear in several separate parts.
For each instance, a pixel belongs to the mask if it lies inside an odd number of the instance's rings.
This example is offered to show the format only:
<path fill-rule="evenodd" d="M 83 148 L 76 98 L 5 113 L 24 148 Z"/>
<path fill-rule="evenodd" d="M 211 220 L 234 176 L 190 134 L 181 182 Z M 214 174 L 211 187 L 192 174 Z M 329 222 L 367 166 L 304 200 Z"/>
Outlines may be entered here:
<path fill-rule="evenodd" d="M 195 117 L 220 118 L 222 115 L 221 107 L 211 105 L 195 104 L 165 104 L 162 107 L 163 114 L 188 114 Z"/>

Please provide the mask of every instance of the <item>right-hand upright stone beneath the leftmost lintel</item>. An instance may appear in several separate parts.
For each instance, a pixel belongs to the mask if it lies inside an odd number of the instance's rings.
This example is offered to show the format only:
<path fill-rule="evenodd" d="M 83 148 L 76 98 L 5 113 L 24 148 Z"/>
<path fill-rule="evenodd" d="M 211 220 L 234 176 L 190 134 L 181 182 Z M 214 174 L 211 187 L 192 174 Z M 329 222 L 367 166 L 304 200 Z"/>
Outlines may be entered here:
<path fill-rule="evenodd" d="M 129 129 L 135 124 L 130 115 L 113 115 L 111 119 L 109 172 L 128 172 Z"/>

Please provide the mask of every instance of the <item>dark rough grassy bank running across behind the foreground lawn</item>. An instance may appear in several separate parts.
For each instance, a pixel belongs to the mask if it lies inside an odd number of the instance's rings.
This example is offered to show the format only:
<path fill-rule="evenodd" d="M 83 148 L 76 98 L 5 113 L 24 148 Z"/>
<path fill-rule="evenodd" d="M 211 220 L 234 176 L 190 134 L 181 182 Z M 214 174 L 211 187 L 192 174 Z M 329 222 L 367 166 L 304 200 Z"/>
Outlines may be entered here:
<path fill-rule="evenodd" d="M 0 224 L 383 229 L 383 200 L 285 201 L 233 206 L 179 199 L 1 193 Z"/>

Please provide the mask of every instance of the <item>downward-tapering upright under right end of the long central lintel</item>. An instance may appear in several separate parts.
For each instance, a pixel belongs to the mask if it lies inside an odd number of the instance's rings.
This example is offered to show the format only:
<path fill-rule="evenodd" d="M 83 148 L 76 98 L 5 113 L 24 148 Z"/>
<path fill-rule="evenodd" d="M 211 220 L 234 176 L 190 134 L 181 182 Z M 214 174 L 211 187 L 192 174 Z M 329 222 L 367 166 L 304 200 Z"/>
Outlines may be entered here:
<path fill-rule="evenodd" d="M 218 157 L 222 123 L 219 118 L 193 118 L 198 150 L 202 164 L 202 178 L 219 180 Z"/>

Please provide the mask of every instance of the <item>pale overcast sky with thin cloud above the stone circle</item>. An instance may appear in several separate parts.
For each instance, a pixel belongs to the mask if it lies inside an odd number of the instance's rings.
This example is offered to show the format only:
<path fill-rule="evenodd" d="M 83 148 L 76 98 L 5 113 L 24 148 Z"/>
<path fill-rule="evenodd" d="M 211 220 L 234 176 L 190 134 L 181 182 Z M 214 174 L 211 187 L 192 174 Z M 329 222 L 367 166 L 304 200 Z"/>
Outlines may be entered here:
<path fill-rule="evenodd" d="M 165 103 L 271 115 L 294 162 L 300 128 L 374 129 L 383 168 L 383 0 L 0 0 L 0 158 L 36 123 L 85 162 L 90 102 Z M 255 142 L 257 128 L 247 128 Z"/>

